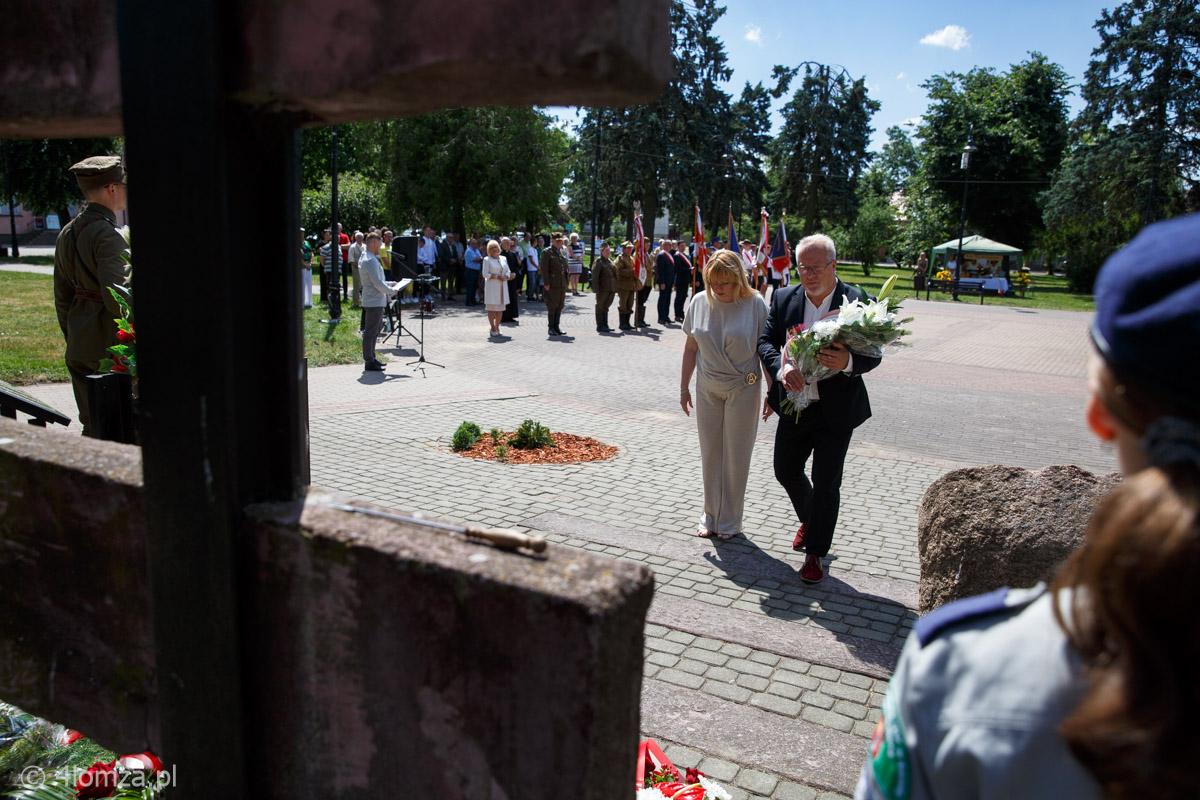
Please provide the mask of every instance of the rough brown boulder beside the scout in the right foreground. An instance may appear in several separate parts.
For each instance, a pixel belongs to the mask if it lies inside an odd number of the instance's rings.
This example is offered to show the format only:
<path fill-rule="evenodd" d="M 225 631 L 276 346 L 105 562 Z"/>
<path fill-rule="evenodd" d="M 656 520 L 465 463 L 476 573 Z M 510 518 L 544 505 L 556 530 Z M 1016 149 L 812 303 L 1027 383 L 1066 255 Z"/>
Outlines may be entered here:
<path fill-rule="evenodd" d="M 1117 473 L 973 467 L 942 475 L 917 517 L 920 612 L 1001 587 L 1050 581 L 1084 541 Z"/>

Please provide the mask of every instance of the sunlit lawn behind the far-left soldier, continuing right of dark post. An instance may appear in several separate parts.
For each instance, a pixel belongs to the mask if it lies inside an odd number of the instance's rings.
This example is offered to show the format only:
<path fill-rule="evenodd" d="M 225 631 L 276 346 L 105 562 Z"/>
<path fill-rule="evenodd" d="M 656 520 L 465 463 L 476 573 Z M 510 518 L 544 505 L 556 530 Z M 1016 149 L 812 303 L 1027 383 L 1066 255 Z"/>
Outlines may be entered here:
<path fill-rule="evenodd" d="M 347 303 L 344 321 L 340 325 L 322 324 L 320 320 L 328 317 L 329 309 L 324 306 L 304 313 L 308 366 L 360 362 L 362 339 L 358 337 L 358 309 Z M 54 315 L 54 278 L 31 272 L 0 272 L 0 380 L 16 385 L 70 380 L 62 362 L 65 350 L 62 331 Z"/>

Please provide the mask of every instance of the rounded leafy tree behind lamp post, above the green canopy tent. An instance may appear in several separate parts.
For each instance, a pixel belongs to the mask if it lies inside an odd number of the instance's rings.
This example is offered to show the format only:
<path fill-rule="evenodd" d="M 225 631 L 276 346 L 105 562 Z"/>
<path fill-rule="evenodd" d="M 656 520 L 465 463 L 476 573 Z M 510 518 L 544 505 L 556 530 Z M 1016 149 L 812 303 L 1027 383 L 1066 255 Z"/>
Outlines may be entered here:
<path fill-rule="evenodd" d="M 1067 146 L 1067 73 L 1032 53 L 1004 73 L 980 67 L 935 76 L 922 86 L 931 101 L 918 128 L 929 190 L 959 207 L 961 156 L 970 138 L 977 150 L 971 156 L 967 228 L 1028 248 L 1043 230 L 1038 194 Z"/>

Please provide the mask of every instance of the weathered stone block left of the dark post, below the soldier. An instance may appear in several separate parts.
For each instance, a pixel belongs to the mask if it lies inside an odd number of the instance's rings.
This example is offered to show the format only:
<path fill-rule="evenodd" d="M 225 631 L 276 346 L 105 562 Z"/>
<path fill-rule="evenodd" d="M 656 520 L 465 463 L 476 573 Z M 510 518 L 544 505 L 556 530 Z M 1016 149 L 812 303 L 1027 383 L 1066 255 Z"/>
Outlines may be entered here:
<path fill-rule="evenodd" d="M 122 752 L 158 738 L 142 453 L 0 419 L 0 698 Z"/>

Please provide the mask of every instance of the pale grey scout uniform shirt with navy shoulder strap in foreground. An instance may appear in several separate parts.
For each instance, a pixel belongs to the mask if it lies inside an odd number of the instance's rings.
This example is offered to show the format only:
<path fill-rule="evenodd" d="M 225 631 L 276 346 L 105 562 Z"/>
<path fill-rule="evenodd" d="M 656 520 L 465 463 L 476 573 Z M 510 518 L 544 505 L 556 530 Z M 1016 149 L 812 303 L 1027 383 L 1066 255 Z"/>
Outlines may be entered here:
<path fill-rule="evenodd" d="M 1063 608 L 1070 597 L 1061 593 Z M 923 616 L 854 799 L 1100 800 L 1057 730 L 1087 680 L 1054 602 L 1040 585 L 997 589 Z"/>

